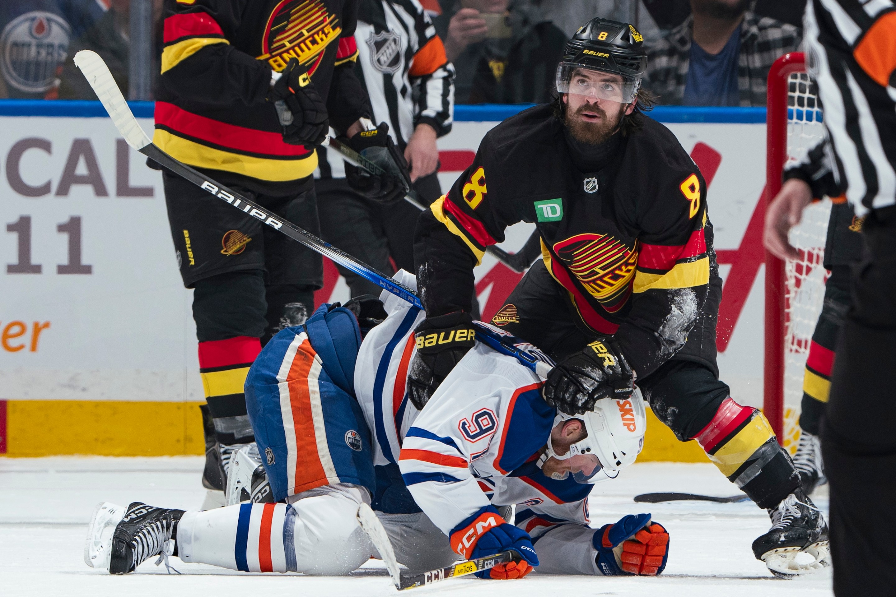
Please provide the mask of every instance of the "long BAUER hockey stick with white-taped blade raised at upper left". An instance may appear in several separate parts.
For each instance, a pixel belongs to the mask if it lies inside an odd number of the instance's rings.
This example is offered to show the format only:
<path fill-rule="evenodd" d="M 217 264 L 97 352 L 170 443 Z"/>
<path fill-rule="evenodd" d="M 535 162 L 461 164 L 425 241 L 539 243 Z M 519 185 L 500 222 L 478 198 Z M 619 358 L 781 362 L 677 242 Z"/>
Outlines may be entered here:
<path fill-rule="evenodd" d="M 420 302 L 417 293 L 408 286 L 404 286 L 392 277 L 371 268 L 363 261 L 355 259 L 349 253 L 341 251 L 332 244 L 289 222 L 289 220 L 271 213 L 253 200 L 249 200 L 233 189 L 215 182 L 159 149 L 146 132 L 143 131 L 137 119 L 134 118 L 131 108 L 127 106 L 125 97 L 121 94 L 121 90 L 118 89 L 115 79 L 112 78 L 112 73 L 109 72 L 108 66 L 96 52 L 81 50 L 74 55 L 74 64 L 81 69 L 84 77 L 90 83 L 90 87 L 97 94 L 97 98 L 99 98 L 108 115 L 112 118 L 112 123 L 115 124 L 116 129 L 125 138 L 128 145 L 147 158 L 158 162 L 159 165 L 165 166 L 171 172 L 183 176 L 186 180 L 211 193 L 211 195 L 226 201 L 228 205 L 239 209 L 247 216 L 257 218 L 265 225 L 271 226 L 274 230 L 280 231 L 294 241 L 304 244 L 312 251 L 320 253 L 324 257 L 340 264 L 343 268 L 349 269 L 349 271 L 358 274 L 358 276 L 373 282 L 376 286 L 380 286 L 383 290 L 395 294 L 402 300 L 423 310 L 423 303 Z M 530 354 L 526 354 L 516 346 L 506 342 L 504 337 L 501 337 L 494 330 L 480 325 L 477 326 L 476 336 L 480 341 L 496 350 L 516 357 L 522 364 L 526 365 L 540 377 L 547 378 L 547 371 L 550 371 L 551 365 L 533 359 Z"/>

